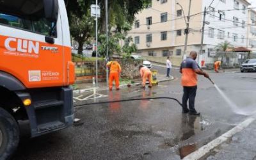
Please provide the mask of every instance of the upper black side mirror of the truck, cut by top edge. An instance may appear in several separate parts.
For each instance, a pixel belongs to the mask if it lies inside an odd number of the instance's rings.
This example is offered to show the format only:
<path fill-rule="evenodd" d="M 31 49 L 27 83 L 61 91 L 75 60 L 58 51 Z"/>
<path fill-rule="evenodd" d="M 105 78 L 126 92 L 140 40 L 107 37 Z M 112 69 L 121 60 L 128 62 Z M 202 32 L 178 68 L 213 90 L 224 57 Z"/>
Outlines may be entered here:
<path fill-rule="evenodd" d="M 45 19 L 56 22 L 58 19 L 59 5 L 58 0 L 44 0 Z"/>

